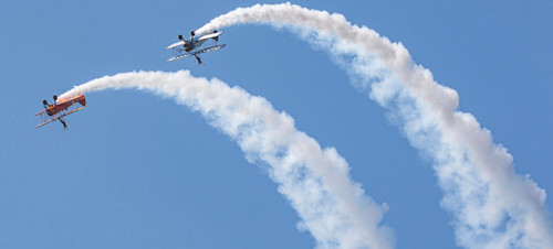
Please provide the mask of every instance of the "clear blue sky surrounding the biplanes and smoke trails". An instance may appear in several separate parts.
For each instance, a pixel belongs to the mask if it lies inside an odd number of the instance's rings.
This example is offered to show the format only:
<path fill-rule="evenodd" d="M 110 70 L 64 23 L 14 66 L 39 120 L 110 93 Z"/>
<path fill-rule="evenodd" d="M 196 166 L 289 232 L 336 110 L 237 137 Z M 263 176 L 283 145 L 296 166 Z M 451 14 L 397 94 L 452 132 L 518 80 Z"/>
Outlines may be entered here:
<path fill-rule="evenodd" d="M 335 147 L 378 203 L 398 248 L 455 248 L 431 163 L 324 51 L 264 25 L 227 29 L 227 47 L 166 63 L 179 33 L 250 1 L 0 1 L 2 248 L 311 248 L 295 212 L 229 138 L 186 107 L 104 91 L 34 130 L 41 100 L 129 71 L 189 69 L 271 101 L 299 130 Z M 294 2 L 344 14 L 401 42 L 456 89 L 547 192 L 553 126 L 551 1 Z M 547 206 L 553 206 L 551 199 Z"/>

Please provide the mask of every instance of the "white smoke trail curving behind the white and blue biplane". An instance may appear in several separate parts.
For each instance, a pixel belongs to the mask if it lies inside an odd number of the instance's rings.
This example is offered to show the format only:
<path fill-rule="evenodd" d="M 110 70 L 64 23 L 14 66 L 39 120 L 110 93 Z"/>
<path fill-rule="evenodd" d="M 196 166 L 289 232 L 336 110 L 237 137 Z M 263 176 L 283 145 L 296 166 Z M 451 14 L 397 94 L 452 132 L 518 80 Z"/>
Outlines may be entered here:
<path fill-rule="evenodd" d="M 409 142 L 435 161 L 459 246 L 553 248 L 545 191 L 514 172 L 512 156 L 493 143 L 490 131 L 472 115 L 456 111 L 457 91 L 436 83 L 400 43 L 342 14 L 290 3 L 238 8 L 197 33 L 243 23 L 289 28 L 328 50 L 359 88 L 369 89 L 371 98 L 400 120 Z"/>

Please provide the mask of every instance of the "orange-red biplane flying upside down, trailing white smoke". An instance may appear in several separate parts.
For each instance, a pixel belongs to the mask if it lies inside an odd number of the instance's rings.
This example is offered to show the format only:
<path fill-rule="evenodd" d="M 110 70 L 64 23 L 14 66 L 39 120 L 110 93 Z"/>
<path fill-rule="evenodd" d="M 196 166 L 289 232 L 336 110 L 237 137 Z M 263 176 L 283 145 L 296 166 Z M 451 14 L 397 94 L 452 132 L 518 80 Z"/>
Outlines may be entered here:
<path fill-rule="evenodd" d="M 74 104 L 80 104 L 79 106 L 73 106 Z M 58 96 L 54 95 L 54 104 L 49 105 L 46 100 L 42 101 L 44 105 L 44 110 L 34 115 L 40 117 L 41 123 L 35 128 L 42 127 L 49 122 L 60 120 L 63 124 L 63 129 L 67 129 L 67 124 L 63 121 L 63 117 L 77 112 L 82 110 L 86 106 L 86 99 L 84 95 L 79 95 L 69 99 L 60 99 L 58 100 Z"/>

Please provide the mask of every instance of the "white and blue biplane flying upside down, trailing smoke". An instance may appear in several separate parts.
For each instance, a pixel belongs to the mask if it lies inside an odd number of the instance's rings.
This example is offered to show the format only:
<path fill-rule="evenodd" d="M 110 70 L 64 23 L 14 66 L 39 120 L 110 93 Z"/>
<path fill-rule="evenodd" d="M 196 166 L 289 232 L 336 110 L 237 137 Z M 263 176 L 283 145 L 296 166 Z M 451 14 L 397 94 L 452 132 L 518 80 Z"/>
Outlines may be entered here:
<path fill-rule="evenodd" d="M 167 62 L 173 62 L 194 55 L 196 59 L 198 59 L 198 65 L 204 64 L 198 56 L 199 54 L 220 50 L 226 46 L 226 44 L 217 44 L 219 42 L 219 35 L 221 35 L 222 33 L 222 31 L 217 32 L 216 30 L 213 30 L 212 32 L 196 35 L 196 33 L 192 31 L 190 32 L 190 37 L 187 40 L 185 40 L 182 35 L 179 34 L 178 40 L 180 41 L 167 46 L 167 50 L 173 50 L 174 54 L 174 56 L 167 59 Z"/>

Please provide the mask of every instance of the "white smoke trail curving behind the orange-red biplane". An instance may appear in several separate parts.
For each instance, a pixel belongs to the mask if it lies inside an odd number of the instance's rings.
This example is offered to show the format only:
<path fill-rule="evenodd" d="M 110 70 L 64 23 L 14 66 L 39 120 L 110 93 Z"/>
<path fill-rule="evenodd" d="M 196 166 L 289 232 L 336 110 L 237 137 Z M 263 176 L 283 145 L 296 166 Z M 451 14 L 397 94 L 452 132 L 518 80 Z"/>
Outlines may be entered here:
<path fill-rule="evenodd" d="M 334 148 L 322 149 L 264 98 L 218 79 L 196 78 L 188 71 L 104 76 L 60 98 L 106 88 L 153 91 L 202 113 L 238 142 L 248 161 L 270 165 L 270 177 L 302 219 L 299 228 L 307 229 L 320 248 L 394 247 L 390 228 L 379 226 L 386 204 L 376 204 L 349 178 L 349 167 Z"/>

